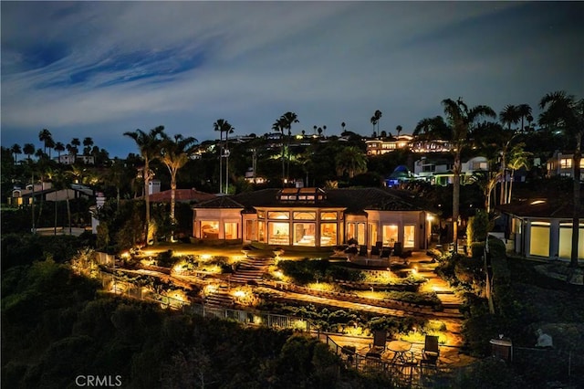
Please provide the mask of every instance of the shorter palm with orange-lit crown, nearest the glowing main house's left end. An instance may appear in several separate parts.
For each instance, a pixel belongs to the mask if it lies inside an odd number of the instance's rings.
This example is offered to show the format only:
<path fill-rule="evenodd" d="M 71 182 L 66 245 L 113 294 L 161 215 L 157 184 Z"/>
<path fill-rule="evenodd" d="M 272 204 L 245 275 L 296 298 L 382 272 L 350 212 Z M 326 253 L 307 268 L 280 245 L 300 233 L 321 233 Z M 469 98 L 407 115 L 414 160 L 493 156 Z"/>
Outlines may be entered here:
<path fill-rule="evenodd" d="M 174 205 L 176 202 L 176 173 L 188 161 L 189 154 L 193 152 L 194 143 L 198 142 L 193 137 L 184 138 L 181 134 L 174 135 L 174 139 L 166 138 L 161 144 L 161 159 L 171 173 L 171 221 L 175 222 Z"/>

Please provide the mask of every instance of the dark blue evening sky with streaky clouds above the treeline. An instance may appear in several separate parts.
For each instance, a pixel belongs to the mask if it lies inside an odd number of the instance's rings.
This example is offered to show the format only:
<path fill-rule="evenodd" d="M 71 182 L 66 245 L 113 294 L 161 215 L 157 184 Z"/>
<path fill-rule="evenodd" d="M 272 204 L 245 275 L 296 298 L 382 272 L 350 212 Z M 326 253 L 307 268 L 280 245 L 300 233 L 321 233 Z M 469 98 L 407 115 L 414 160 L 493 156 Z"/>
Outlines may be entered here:
<path fill-rule="evenodd" d="M 164 125 L 213 139 L 340 123 L 370 134 L 469 105 L 584 97 L 582 2 L 9 2 L 2 7 L 2 145 L 92 137 L 136 152 L 125 131 Z"/>

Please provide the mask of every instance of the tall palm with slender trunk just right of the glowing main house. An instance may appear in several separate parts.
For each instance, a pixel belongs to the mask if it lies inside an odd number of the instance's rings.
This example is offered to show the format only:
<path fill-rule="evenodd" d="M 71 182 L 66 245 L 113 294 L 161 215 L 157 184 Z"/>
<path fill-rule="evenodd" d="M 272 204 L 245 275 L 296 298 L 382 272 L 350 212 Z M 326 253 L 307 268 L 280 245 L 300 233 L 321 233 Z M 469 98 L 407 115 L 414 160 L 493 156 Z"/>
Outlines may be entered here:
<path fill-rule="evenodd" d="M 496 113 L 490 107 L 477 105 L 468 108 L 462 98 L 458 100 L 446 99 L 442 101 L 444 116 L 424 119 L 418 123 L 413 131 L 414 135 L 424 132 L 425 136 L 436 134 L 437 138 L 448 139 L 452 142 L 454 153 L 453 165 L 453 238 L 454 252 L 458 250 L 458 228 L 456 226 L 460 215 L 460 173 L 462 169 L 461 152 L 470 140 L 475 123 L 482 117 L 495 118 Z M 448 134 L 448 136 L 445 136 Z"/>

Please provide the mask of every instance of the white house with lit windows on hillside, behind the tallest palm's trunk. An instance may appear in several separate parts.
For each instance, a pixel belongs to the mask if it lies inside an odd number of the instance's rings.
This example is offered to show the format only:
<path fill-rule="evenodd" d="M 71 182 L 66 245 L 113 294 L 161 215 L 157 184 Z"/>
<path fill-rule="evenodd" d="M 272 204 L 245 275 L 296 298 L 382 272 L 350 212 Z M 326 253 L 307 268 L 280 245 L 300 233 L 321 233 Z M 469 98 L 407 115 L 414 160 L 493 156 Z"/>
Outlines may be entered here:
<path fill-rule="evenodd" d="M 452 155 L 442 158 L 422 157 L 413 164 L 413 173 L 422 180 L 431 184 L 447 185 L 453 184 L 454 181 L 454 157 Z M 461 165 L 461 184 L 470 181 L 473 173 L 479 171 L 488 171 L 488 161 L 485 157 L 474 157 Z"/>

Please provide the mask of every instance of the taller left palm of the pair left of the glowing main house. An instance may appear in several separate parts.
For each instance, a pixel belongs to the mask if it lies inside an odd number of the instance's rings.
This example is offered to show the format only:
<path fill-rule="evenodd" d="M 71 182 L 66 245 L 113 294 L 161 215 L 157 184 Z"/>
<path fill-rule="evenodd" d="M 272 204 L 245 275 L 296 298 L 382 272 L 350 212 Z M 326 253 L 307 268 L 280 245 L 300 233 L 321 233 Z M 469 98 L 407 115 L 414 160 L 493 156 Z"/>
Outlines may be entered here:
<path fill-rule="evenodd" d="M 144 200 L 146 202 L 146 245 L 149 241 L 150 229 L 150 193 L 149 186 L 151 181 L 150 163 L 160 156 L 160 144 L 162 142 L 164 126 L 158 126 L 151 129 L 149 132 L 136 131 L 124 132 L 124 136 L 128 136 L 136 142 L 141 156 L 144 159 Z"/>

